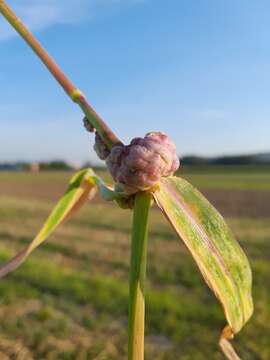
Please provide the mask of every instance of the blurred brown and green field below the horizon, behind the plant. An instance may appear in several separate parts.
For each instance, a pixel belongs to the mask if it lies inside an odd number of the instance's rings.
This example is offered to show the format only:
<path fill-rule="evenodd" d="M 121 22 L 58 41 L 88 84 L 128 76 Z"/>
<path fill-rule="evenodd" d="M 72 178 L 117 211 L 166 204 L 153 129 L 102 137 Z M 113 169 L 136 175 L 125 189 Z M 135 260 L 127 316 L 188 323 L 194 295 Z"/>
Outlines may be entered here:
<path fill-rule="evenodd" d="M 0 173 L 0 260 L 28 244 L 67 173 Z M 225 215 L 254 272 L 244 360 L 270 359 L 270 169 L 184 171 Z M 0 282 L 0 359 L 126 359 L 131 212 L 100 199 Z M 223 359 L 222 309 L 183 244 L 151 213 L 146 359 Z"/>

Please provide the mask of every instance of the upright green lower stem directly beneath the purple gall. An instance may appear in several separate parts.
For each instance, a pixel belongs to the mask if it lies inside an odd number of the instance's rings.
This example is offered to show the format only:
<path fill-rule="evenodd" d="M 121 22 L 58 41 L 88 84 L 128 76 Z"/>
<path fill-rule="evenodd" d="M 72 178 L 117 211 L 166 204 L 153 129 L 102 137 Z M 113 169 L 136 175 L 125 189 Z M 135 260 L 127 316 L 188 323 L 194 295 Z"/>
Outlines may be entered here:
<path fill-rule="evenodd" d="M 144 281 L 146 273 L 148 218 L 152 195 L 136 195 L 131 244 L 128 360 L 144 359 Z"/>

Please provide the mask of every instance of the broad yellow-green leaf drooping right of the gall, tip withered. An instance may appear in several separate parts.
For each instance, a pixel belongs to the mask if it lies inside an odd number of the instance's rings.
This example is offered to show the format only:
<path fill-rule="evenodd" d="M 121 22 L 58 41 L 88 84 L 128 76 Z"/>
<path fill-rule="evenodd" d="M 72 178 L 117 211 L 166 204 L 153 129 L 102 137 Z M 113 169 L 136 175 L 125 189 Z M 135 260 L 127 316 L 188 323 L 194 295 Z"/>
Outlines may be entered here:
<path fill-rule="evenodd" d="M 229 324 L 220 344 L 224 352 L 232 352 L 226 339 L 240 331 L 253 312 L 247 257 L 223 217 L 184 179 L 164 178 L 153 196 L 220 300 Z"/>

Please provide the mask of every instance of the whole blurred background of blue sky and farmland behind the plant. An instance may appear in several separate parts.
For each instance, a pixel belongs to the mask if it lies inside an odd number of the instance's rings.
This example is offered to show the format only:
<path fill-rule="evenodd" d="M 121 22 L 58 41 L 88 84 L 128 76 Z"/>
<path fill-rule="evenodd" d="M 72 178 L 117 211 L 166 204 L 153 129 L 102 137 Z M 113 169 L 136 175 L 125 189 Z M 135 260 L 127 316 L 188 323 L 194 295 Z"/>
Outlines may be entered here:
<path fill-rule="evenodd" d="M 236 336 L 270 358 L 268 1 L 10 0 L 124 142 L 161 130 L 254 273 Z M 0 260 L 29 244 L 72 173 L 92 166 L 82 114 L 0 17 Z M 127 357 L 132 213 L 99 198 L 0 282 L 0 359 Z M 151 214 L 146 358 L 223 359 L 225 320 L 191 256 Z"/>

